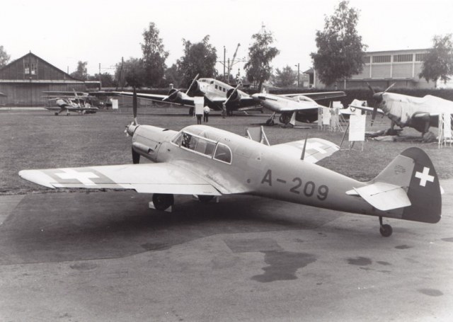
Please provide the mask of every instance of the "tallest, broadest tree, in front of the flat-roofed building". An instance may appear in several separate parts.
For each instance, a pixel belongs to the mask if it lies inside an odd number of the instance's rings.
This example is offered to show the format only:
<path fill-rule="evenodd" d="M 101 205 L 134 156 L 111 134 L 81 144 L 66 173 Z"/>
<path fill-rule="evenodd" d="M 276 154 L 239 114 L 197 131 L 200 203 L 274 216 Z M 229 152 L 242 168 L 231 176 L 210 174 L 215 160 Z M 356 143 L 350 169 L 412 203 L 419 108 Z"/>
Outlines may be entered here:
<path fill-rule="evenodd" d="M 367 45 L 357 33 L 359 13 L 349 7 L 349 1 L 340 1 L 324 21 L 324 30 L 316 31 L 318 52 L 310 55 L 319 80 L 330 86 L 362 71 Z"/>

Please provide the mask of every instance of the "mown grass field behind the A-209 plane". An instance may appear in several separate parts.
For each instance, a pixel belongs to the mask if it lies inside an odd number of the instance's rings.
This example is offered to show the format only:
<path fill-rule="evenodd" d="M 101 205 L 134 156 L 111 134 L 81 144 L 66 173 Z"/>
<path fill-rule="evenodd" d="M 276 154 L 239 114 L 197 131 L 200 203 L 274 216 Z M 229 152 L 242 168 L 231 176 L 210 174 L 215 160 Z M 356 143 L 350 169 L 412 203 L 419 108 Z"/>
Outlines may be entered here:
<path fill-rule="evenodd" d="M 69 117 L 54 116 L 48 111 L 0 111 L 0 195 L 55 191 L 22 180 L 17 173 L 23 169 L 131 163 L 131 138 L 124 133 L 125 125 L 132 120 L 131 115 L 129 108 Z M 222 119 L 219 114 L 212 113 L 209 125 L 243 135 L 246 127 L 263 123 L 267 117 L 266 113 L 236 113 L 234 117 Z M 196 121 L 188 116 L 188 108 L 157 105 L 140 108 L 139 123 L 180 130 Z M 265 127 L 265 133 L 270 144 L 304 139 L 307 133 L 309 137 L 340 144 L 343 132 L 321 131 L 316 124 L 311 126 L 311 130 Z M 367 121 L 367 130 L 387 127 L 389 120 L 386 118 L 378 118 L 372 128 Z M 354 150 L 338 151 L 319 164 L 357 180 L 369 180 L 401 151 L 420 146 L 430 155 L 440 178 L 453 178 L 453 148 L 438 149 L 437 143 L 416 142 L 420 134 L 411 129 L 405 129 L 403 134 L 413 137 L 414 142 L 368 141 L 363 151 L 360 150 L 362 144 L 355 144 Z M 343 147 L 347 148 L 348 142 L 344 142 Z"/>

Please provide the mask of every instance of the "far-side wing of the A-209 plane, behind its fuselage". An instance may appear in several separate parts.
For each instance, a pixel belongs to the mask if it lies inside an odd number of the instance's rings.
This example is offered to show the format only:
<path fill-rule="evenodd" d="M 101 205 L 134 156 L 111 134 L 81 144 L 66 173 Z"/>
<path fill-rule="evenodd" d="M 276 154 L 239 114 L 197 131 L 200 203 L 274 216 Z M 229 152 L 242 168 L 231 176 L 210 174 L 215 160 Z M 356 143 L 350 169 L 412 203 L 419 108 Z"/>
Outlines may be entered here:
<path fill-rule="evenodd" d="M 271 146 L 284 157 L 301 159 L 305 140 L 275 144 Z M 340 149 L 340 146 L 325 139 L 310 138 L 306 142 L 304 161 L 317 163 L 327 156 L 331 156 Z"/>

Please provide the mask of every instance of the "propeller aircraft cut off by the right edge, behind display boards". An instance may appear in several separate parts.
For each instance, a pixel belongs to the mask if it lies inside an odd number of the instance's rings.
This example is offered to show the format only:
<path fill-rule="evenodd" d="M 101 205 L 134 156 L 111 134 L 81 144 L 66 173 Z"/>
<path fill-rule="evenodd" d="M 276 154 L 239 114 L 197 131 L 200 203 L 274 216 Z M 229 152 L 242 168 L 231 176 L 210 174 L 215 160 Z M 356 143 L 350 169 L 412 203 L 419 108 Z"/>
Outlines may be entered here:
<path fill-rule="evenodd" d="M 437 96 L 427 95 L 423 98 L 388 93 L 389 89 L 394 86 L 391 84 L 385 91 L 373 92 L 374 108 L 362 105 L 350 105 L 350 108 L 359 108 L 361 110 L 371 110 L 373 125 L 377 113 L 386 115 L 391 120 L 390 133 L 395 132 L 394 127 L 412 127 L 421 132 L 423 135 L 429 131 L 430 127 L 439 126 L 439 115 L 453 115 L 453 102 Z"/>

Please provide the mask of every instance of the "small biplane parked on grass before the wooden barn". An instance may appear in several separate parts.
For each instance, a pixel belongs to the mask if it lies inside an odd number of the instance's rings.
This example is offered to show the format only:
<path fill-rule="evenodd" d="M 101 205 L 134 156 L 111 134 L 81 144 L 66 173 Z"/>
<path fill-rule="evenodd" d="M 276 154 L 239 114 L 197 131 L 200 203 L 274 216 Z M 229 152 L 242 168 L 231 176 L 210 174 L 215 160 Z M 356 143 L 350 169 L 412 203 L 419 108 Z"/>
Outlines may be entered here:
<path fill-rule="evenodd" d="M 88 96 L 88 93 L 77 93 L 74 91 L 74 95 L 69 95 L 71 92 L 44 92 L 47 93 L 50 101 L 55 101 L 57 106 L 47 106 L 47 110 L 52 110 L 55 115 L 61 113 L 67 113 L 70 115 L 71 112 L 79 114 L 90 114 L 96 113 L 99 108 L 89 103 L 92 97 Z M 59 95 L 58 95 L 59 94 Z"/>

